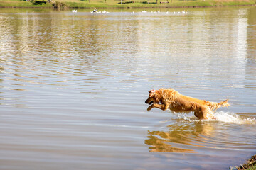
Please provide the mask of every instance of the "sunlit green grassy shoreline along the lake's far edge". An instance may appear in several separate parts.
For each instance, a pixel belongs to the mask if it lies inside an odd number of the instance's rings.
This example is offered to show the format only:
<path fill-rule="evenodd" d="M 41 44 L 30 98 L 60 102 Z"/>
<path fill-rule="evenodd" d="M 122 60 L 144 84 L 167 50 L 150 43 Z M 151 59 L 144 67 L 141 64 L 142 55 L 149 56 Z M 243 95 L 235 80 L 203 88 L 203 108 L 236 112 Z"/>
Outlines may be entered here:
<path fill-rule="evenodd" d="M 124 0 L 125 1 L 125 0 Z M 7 3 L 12 2 L 12 3 Z M 15 3 L 17 2 L 17 3 Z M 42 2 L 42 1 L 41 1 Z M 58 3 L 58 4 L 57 4 Z M 63 1 L 55 3 L 43 3 L 41 5 L 32 4 L 30 1 L 1 1 L 0 8 L 58 8 L 58 9 L 68 9 L 68 8 L 220 8 L 220 7 L 239 7 L 239 6 L 256 6 L 255 0 L 249 1 L 174 1 L 171 3 L 149 3 L 135 2 L 135 3 L 124 3 L 117 4 L 117 0 L 114 0 L 115 4 L 92 4 L 92 3 L 82 3 L 74 1 Z M 57 4 L 57 5 L 56 5 Z"/>

